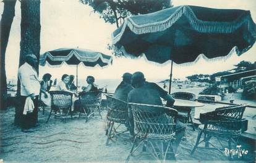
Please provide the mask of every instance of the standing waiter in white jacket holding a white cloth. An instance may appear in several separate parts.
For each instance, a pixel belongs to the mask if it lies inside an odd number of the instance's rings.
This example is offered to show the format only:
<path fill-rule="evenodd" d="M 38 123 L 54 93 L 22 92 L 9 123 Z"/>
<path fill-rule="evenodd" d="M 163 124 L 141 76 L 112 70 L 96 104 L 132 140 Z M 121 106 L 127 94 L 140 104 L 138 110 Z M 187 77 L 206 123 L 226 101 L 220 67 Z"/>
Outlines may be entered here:
<path fill-rule="evenodd" d="M 21 127 L 22 131 L 35 127 L 38 122 L 38 95 L 40 93 L 40 81 L 36 73 L 35 66 L 38 60 L 35 55 L 29 54 L 25 56 L 25 63 L 20 66 L 18 76 L 20 79 L 20 103 L 22 109 L 25 100 L 30 97 L 33 100 L 35 108 L 32 113 L 22 115 Z M 22 110 L 23 113 L 23 110 Z"/>

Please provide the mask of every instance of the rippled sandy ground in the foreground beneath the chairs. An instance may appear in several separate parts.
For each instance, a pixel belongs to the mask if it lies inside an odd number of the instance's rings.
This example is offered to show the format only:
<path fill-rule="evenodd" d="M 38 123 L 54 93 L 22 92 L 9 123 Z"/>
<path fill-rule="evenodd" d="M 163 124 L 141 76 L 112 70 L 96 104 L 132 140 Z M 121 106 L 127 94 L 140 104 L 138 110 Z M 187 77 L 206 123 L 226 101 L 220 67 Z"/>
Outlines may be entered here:
<path fill-rule="evenodd" d="M 129 155 L 132 141 L 129 137 L 116 137 L 108 146 L 105 126 L 106 110 L 103 119 L 95 116 L 85 123 L 85 118 L 67 119 L 51 118 L 45 124 L 49 109 L 45 115 L 38 113 L 40 126 L 32 133 L 23 133 L 14 125 L 15 109 L 1 111 L 1 154 L 4 162 L 125 162 Z M 195 145 L 198 131 L 187 128 L 187 139 L 182 140 L 178 149 L 176 162 L 229 162 L 228 157 L 218 151 L 197 149 L 193 156 L 190 151 Z M 213 141 L 216 144 L 216 140 Z M 242 148 L 249 146 L 242 144 Z M 136 154 L 142 153 L 139 149 Z M 224 151 L 223 151 L 224 153 Z M 249 153 L 239 162 L 254 160 L 254 152 Z M 134 156 L 129 162 L 156 162 L 153 157 Z M 168 161 L 173 162 L 173 161 Z M 234 161 L 231 161 L 234 162 Z"/>

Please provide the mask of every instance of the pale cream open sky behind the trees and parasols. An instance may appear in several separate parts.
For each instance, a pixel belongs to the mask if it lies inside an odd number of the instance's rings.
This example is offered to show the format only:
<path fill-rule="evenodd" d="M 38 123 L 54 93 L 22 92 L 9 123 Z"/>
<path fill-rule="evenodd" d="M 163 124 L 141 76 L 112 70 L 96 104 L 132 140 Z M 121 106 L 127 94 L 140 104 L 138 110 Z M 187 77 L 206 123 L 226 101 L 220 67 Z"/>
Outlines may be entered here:
<path fill-rule="evenodd" d="M 255 0 L 173 0 L 174 6 L 195 5 L 218 9 L 250 10 L 256 22 Z M 0 3 L 2 14 L 4 4 Z M 15 6 L 15 17 L 12 23 L 9 42 L 6 50 L 7 78 L 17 78 L 20 53 L 20 2 Z M 111 55 L 106 47 L 111 44 L 111 33 L 116 25 L 105 23 L 92 7 L 81 4 L 79 0 L 41 0 L 41 49 L 40 54 L 48 50 L 62 47 L 79 47 Z M 174 65 L 173 78 L 185 79 L 192 74 L 211 74 L 218 71 L 231 70 L 233 65 L 242 60 L 256 61 L 256 46 L 238 57 L 236 54 L 225 59 L 198 60 L 196 63 Z M 145 58 L 130 59 L 113 57 L 113 65 L 106 68 L 90 68 L 79 65 L 79 78 L 93 75 L 98 79 L 119 79 L 125 72 L 142 71 L 147 79 L 168 79 L 171 62 L 163 65 L 148 62 Z M 76 66 L 63 65 L 59 68 L 40 66 L 40 78 L 45 73 L 53 74 L 53 78 L 61 78 L 62 74 L 75 74 Z"/>

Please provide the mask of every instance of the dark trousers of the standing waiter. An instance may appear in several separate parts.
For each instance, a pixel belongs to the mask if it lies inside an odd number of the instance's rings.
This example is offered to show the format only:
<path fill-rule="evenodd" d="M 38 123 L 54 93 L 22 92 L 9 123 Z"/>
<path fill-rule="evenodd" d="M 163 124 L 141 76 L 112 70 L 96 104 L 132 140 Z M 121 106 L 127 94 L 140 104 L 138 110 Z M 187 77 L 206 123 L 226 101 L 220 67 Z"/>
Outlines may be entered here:
<path fill-rule="evenodd" d="M 22 129 L 30 129 L 35 126 L 38 122 L 38 96 L 33 100 L 35 108 L 33 109 L 32 113 L 27 113 L 26 115 L 23 114 L 24 105 L 27 96 L 20 96 L 20 113 L 21 113 L 21 122 L 20 127 Z"/>

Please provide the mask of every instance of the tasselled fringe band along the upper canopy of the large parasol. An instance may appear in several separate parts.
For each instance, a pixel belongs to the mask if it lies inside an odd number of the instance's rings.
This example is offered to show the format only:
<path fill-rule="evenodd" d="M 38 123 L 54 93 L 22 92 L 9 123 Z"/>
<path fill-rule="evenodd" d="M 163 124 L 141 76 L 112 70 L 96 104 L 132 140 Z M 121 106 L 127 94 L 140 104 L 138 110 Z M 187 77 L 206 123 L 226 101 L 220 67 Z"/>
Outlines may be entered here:
<path fill-rule="evenodd" d="M 182 15 L 186 16 L 192 28 L 200 33 L 232 33 L 233 31 L 237 30 L 237 28 L 246 24 L 252 36 L 256 38 L 255 25 L 252 18 L 250 17 L 250 14 L 240 15 L 240 17 L 238 17 L 232 23 L 206 22 L 199 20 L 189 6 L 181 6 L 170 17 L 161 22 L 137 25 L 132 20 L 132 18 L 126 18 L 120 33 L 117 34 L 115 37 L 112 34 L 113 44 L 116 44 L 116 42 L 118 42 L 121 39 L 121 36 L 124 33 L 124 30 L 126 29 L 126 26 L 128 26 L 130 30 L 135 34 L 155 33 L 170 28 L 175 22 L 177 22 L 177 20 L 179 20 L 179 18 L 182 17 Z"/>

